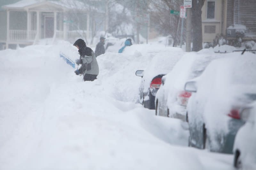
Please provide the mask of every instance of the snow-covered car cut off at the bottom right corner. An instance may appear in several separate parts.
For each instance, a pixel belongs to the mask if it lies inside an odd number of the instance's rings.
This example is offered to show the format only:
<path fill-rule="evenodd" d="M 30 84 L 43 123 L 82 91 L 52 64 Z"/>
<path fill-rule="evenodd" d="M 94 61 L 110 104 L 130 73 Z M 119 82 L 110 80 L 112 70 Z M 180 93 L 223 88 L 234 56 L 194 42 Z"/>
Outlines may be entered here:
<path fill-rule="evenodd" d="M 246 123 L 236 134 L 234 143 L 234 166 L 242 169 L 256 168 L 256 102 L 246 108 L 241 118 Z"/>

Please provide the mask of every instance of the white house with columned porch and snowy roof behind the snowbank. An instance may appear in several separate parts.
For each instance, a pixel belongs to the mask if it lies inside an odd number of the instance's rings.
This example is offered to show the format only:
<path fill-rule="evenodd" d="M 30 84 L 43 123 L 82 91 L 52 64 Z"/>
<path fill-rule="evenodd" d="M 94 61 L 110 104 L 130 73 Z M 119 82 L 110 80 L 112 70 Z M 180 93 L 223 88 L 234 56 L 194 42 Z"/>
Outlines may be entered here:
<path fill-rule="evenodd" d="M 90 38 L 95 9 L 79 1 L 21 0 L 2 6 L 0 43 L 4 48 L 36 44 L 44 38 Z"/>

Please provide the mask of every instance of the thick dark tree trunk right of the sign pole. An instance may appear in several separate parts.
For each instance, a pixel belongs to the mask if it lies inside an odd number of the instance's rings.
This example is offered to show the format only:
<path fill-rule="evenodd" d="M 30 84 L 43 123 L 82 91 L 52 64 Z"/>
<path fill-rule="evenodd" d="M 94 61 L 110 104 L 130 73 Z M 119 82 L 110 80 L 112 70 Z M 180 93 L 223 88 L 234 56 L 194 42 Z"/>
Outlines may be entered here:
<path fill-rule="evenodd" d="M 202 7 L 205 0 L 192 0 L 192 51 L 200 51 L 203 49 L 202 36 Z"/>

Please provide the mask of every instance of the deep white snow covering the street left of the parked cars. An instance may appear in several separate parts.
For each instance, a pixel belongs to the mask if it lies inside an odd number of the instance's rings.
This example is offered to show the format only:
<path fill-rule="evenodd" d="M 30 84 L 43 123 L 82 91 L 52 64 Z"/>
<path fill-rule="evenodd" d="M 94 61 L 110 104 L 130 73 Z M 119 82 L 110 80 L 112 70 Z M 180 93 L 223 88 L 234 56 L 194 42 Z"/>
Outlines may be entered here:
<path fill-rule="evenodd" d="M 187 147 L 185 123 L 136 103 L 140 77 L 160 45 L 133 45 L 97 58 L 100 74 L 83 82 L 76 48 L 28 46 L 0 51 L 0 169 L 233 169 L 232 155 Z M 128 52 L 127 52 L 128 51 Z"/>

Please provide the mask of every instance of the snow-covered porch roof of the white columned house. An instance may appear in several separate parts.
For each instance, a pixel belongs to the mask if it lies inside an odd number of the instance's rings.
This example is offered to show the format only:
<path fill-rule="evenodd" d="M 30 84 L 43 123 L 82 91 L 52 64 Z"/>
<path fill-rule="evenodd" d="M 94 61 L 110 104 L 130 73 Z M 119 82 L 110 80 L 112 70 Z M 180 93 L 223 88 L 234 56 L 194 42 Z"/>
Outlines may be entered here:
<path fill-rule="evenodd" d="M 90 7 L 87 4 L 84 4 L 80 1 L 70 1 L 70 0 L 59 0 L 59 1 L 51 1 L 51 0 L 21 0 L 14 4 L 4 5 L 2 6 L 5 10 L 24 10 L 27 11 L 31 8 L 40 8 L 40 6 L 47 5 L 55 8 L 62 9 L 63 11 L 89 11 L 96 10 Z"/>

